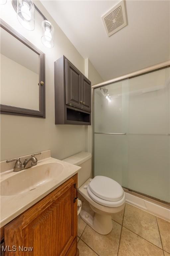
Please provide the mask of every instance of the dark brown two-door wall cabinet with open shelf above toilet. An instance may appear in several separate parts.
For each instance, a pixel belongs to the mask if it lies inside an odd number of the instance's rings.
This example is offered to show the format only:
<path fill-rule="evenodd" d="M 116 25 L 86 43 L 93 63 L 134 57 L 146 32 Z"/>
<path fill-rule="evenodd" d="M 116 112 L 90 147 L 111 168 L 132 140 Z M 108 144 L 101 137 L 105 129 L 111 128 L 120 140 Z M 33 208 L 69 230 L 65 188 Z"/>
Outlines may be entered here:
<path fill-rule="evenodd" d="M 91 124 L 91 82 L 65 57 L 54 62 L 55 124 Z"/>

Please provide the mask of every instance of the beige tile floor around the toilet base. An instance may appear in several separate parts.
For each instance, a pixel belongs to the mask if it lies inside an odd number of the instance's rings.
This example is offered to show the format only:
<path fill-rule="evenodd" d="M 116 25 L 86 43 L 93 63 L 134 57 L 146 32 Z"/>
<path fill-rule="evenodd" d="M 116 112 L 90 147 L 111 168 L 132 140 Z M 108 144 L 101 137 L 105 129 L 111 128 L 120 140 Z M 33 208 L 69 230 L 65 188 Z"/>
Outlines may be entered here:
<path fill-rule="evenodd" d="M 170 256 L 170 222 L 130 204 L 112 220 L 100 235 L 78 216 L 79 256 Z"/>

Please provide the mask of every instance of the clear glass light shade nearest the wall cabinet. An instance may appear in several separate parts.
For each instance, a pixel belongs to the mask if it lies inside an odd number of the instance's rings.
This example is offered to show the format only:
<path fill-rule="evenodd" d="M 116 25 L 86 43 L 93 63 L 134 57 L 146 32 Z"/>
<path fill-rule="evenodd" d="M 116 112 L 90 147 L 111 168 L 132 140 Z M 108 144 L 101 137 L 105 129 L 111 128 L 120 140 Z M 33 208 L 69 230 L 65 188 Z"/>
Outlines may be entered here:
<path fill-rule="evenodd" d="M 54 46 L 54 27 L 48 20 L 42 21 L 42 44 L 47 48 Z"/>

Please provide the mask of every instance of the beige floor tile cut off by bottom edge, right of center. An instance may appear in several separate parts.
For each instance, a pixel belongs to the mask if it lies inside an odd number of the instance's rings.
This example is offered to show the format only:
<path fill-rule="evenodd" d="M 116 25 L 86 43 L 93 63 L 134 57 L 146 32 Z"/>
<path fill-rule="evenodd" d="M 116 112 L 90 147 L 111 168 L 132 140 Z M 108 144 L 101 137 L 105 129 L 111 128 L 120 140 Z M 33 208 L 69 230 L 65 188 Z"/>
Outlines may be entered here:
<path fill-rule="evenodd" d="M 123 227 L 118 255 L 163 256 L 163 250 Z"/>

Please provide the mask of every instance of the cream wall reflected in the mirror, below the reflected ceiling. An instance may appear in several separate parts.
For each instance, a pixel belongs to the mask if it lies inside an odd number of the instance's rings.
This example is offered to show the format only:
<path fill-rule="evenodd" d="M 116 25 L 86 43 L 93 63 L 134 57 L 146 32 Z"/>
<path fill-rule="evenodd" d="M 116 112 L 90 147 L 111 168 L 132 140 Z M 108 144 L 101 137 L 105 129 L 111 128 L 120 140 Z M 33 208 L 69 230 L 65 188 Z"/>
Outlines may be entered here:
<path fill-rule="evenodd" d="M 0 60 L 1 104 L 39 110 L 39 74 L 3 54 Z"/>

